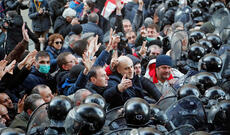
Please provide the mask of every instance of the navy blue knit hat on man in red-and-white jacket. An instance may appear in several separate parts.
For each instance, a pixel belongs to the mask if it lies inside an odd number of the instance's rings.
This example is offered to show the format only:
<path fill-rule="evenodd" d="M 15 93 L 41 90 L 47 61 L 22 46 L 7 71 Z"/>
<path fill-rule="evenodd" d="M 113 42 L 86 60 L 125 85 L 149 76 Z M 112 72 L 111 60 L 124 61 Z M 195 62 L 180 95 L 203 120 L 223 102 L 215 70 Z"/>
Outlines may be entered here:
<path fill-rule="evenodd" d="M 170 56 L 168 55 L 159 55 L 157 56 L 157 60 L 156 60 L 156 67 L 159 67 L 161 65 L 168 65 L 168 66 L 172 66 L 172 59 Z"/>

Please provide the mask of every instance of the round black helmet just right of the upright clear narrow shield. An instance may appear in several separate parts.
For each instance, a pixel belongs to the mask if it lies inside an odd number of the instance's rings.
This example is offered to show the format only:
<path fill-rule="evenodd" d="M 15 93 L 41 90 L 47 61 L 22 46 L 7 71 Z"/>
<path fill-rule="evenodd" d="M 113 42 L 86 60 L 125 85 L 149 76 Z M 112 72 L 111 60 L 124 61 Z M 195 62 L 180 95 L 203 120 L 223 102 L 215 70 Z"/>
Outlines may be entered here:
<path fill-rule="evenodd" d="M 205 55 L 205 48 L 204 46 L 194 43 L 189 47 L 188 50 L 188 59 L 198 62 L 200 58 Z"/>

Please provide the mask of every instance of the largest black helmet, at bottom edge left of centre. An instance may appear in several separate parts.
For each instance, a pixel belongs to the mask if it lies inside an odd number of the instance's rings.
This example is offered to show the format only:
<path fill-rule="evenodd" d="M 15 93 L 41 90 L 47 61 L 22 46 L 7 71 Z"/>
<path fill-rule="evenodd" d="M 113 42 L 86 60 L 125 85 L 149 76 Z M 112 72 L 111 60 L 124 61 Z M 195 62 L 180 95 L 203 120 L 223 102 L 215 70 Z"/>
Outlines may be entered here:
<path fill-rule="evenodd" d="M 65 130 L 68 135 L 94 134 L 104 126 L 104 123 L 105 112 L 101 106 L 92 103 L 81 104 L 68 113 Z"/>

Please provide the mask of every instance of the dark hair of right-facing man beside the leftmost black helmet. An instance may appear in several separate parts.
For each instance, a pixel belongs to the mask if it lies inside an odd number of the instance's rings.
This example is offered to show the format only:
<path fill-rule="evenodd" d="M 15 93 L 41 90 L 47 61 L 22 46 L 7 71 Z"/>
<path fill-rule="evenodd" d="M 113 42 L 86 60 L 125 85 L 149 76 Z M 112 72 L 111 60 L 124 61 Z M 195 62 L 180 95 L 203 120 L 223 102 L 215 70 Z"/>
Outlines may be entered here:
<path fill-rule="evenodd" d="M 31 94 L 25 99 L 24 111 L 27 112 L 28 109 L 34 111 L 38 106 L 36 105 L 37 100 L 42 100 L 39 94 Z"/>

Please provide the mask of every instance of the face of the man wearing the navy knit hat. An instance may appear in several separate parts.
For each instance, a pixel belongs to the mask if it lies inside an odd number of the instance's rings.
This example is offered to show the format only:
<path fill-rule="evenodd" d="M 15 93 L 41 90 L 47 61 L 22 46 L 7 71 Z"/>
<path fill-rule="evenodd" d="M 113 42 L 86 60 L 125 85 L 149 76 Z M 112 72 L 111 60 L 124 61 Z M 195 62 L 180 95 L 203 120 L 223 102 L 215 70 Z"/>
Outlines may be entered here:
<path fill-rule="evenodd" d="M 157 78 L 161 81 L 166 81 L 171 74 L 171 67 L 168 65 L 161 65 L 156 68 Z"/>

